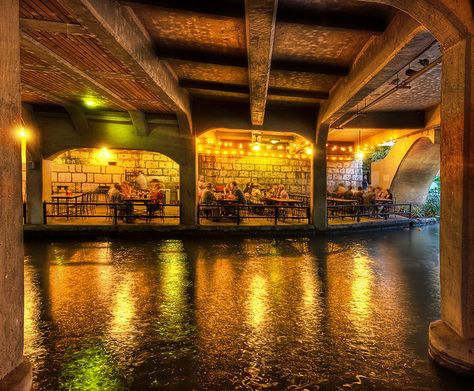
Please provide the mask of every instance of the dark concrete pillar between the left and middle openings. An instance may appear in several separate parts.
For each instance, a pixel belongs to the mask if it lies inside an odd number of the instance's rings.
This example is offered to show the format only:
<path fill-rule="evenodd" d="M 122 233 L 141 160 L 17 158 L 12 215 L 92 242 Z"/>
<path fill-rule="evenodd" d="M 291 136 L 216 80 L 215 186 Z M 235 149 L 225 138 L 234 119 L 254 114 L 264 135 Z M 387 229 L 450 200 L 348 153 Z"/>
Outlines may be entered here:
<path fill-rule="evenodd" d="M 179 167 L 179 191 L 181 201 L 180 222 L 185 225 L 197 223 L 197 152 L 196 140 L 190 136 L 185 139 L 183 153 L 185 162 Z"/>

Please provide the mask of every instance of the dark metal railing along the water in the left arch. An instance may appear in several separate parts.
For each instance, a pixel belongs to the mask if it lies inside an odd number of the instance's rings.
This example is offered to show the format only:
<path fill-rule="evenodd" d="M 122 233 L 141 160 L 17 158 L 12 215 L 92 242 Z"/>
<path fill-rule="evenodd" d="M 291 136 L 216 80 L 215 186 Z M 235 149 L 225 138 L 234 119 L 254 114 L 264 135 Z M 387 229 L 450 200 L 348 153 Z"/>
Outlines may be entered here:
<path fill-rule="evenodd" d="M 171 208 L 173 207 L 173 208 Z M 168 214 L 172 209 L 177 213 Z M 43 202 L 43 222 L 48 224 L 48 219 L 64 218 L 66 221 L 73 219 L 103 218 L 106 223 L 118 224 L 120 221 L 136 222 L 144 220 L 179 219 L 181 206 L 179 204 L 147 203 L 110 203 L 110 202 Z"/>

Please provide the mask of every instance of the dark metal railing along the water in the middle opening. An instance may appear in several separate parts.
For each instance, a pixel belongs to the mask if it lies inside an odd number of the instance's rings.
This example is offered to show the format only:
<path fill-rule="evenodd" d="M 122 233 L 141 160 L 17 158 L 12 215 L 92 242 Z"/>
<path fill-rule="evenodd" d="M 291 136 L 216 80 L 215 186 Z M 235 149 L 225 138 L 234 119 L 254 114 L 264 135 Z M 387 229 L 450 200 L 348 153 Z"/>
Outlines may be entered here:
<path fill-rule="evenodd" d="M 311 224 L 311 212 L 307 206 L 288 205 L 204 205 L 197 207 L 198 224 L 209 222 L 234 222 L 237 225 L 251 220 L 266 220 L 272 225 L 279 222 Z"/>

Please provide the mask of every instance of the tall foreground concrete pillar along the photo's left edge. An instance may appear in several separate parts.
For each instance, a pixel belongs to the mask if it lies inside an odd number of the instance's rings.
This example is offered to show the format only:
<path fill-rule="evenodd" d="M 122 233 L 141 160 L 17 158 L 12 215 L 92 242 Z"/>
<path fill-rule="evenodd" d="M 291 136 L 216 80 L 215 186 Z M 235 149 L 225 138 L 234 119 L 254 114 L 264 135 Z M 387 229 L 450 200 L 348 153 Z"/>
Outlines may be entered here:
<path fill-rule="evenodd" d="M 23 364 L 23 227 L 18 0 L 0 1 L 0 390 L 31 387 Z"/>

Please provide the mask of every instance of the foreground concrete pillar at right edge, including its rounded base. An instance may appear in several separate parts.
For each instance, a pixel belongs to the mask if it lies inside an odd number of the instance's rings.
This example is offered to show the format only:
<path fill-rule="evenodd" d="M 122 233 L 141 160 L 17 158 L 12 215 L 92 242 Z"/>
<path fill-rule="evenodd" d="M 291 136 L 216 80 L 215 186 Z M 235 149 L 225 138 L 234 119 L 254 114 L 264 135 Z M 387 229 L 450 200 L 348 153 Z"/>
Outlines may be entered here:
<path fill-rule="evenodd" d="M 441 320 L 429 352 L 441 365 L 474 373 L 474 46 L 443 53 L 441 103 Z"/>

